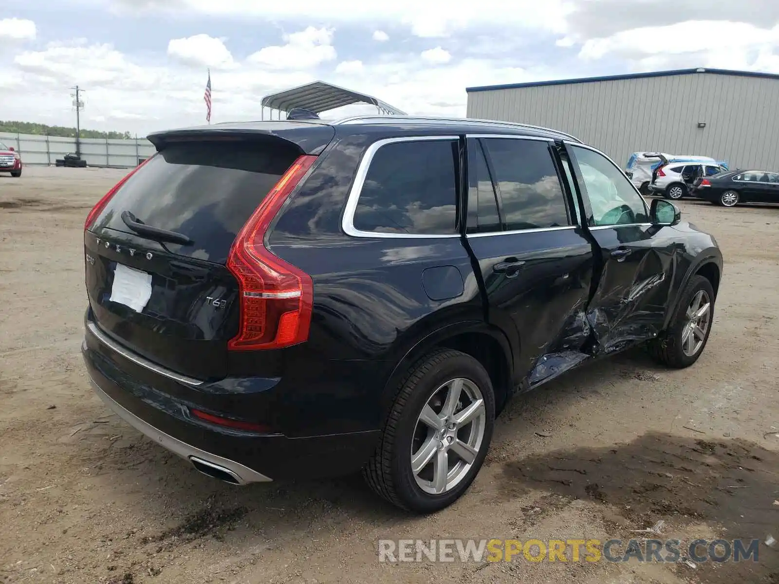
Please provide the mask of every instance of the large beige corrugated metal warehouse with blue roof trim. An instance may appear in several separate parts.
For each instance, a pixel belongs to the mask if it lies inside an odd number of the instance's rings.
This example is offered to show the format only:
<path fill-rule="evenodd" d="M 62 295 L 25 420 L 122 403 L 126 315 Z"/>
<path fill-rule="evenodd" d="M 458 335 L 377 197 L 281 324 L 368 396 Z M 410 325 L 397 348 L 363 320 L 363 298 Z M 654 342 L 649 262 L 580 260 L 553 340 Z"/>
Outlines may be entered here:
<path fill-rule="evenodd" d="M 779 75 L 682 69 L 467 88 L 469 118 L 543 125 L 603 150 L 779 171 Z"/>

